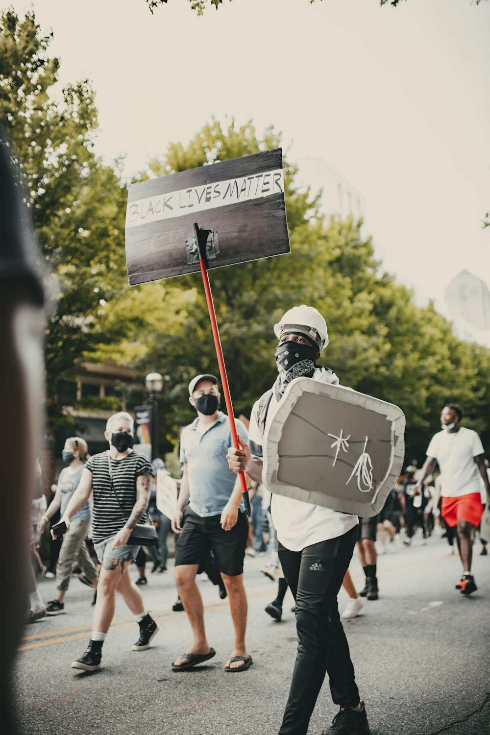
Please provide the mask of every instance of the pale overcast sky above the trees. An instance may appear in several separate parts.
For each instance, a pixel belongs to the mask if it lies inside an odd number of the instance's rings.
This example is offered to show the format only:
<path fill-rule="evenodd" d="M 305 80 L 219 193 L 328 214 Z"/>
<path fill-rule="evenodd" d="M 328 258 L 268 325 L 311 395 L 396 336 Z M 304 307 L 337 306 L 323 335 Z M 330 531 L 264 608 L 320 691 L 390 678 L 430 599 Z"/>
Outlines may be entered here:
<path fill-rule="evenodd" d="M 30 2 L 9 0 L 18 12 Z M 98 152 L 127 176 L 211 115 L 283 132 L 364 196 L 387 270 L 443 307 L 460 270 L 490 284 L 490 1 L 34 0 L 62 83 L 96 90 Z M 5 6 L 7 7 L 7 6 Z"/>

